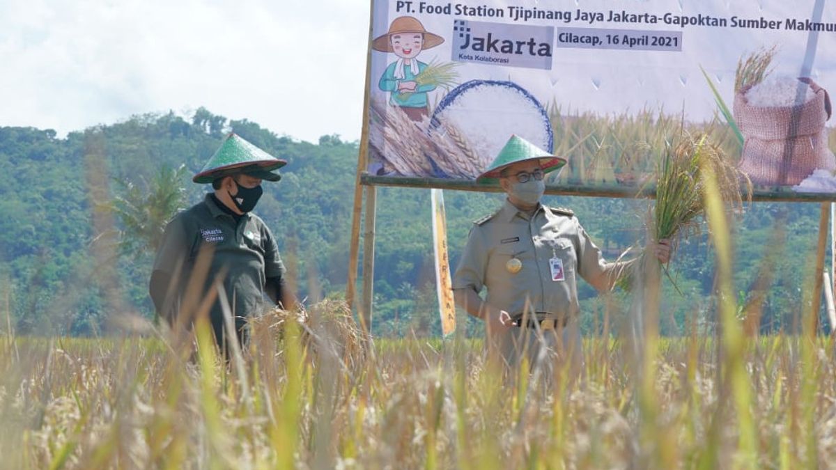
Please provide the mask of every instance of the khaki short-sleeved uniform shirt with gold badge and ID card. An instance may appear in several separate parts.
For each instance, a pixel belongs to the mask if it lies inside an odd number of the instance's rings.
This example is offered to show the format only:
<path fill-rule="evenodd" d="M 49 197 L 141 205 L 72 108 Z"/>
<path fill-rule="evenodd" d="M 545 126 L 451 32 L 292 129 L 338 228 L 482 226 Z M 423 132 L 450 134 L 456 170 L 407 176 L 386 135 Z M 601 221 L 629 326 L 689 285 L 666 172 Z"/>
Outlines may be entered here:
<path fill-rule="evenodd" d="M 512 273 L 507 263 L 523 265 Z M 550 259 L 563 263 L 563 280 L 552 280 Z M 474 222 L 453 276 L 453 289 L 487 288 L 487 303 L 515 315 L 547 312 L 572 319 L 579 313 L 578 276 L 599 291 L 609 290 L 625 263 L 605 263 L 573 212 L 539 205 L 533 216 L 506 200 L 502 208 Z"/>

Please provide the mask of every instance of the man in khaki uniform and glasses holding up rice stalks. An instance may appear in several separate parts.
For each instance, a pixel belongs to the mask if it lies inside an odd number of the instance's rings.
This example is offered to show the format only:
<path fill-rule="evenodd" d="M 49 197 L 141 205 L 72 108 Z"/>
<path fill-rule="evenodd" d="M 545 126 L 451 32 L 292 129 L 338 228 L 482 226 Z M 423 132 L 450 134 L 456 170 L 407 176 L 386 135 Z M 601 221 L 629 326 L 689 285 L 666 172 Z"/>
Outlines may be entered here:
<path fill-rule="evenodd" d="M 543 176 L 565 163 L 514 135 L 477 178 L 498 179 L 507 199 L 474 222 L 453 293 L 456 304 L 485 320 L 489 344 L 508 365 L 517 365 L 523 350 L 531 365 L 553 355 L 579 365 L 578 276 L 607 291 L 633 263 L 606 263 L 572 211 L 540 203 Z M 670 244 L 654 243 L 648 253 L 666 263 Z"/>

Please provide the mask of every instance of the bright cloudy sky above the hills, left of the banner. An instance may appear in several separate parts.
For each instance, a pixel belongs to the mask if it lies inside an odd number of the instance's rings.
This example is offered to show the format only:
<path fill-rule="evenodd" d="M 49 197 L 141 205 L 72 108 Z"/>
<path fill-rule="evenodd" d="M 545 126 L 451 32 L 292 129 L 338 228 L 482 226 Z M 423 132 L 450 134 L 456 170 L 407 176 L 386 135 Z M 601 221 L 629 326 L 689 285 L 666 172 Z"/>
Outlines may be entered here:
<path fill-rule="evenodd" d="M 145 113 L 357 140 L 369 3 L 0 0 L 0 126 L 59 136 Z"/>

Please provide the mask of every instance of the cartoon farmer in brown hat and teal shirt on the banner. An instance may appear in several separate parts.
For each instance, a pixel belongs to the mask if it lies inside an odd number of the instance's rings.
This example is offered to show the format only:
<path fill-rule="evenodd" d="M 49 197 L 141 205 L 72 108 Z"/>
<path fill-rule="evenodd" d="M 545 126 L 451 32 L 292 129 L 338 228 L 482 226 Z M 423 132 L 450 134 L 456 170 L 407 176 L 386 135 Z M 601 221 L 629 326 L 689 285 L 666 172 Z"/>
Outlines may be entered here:
<path fill-rule="evenodd" d="M 415 58 L 422 50 L 443 42 L 444 38 L 427 32 L 424 25 L 413 17 L 395 18 L 389 31 L 372 41 L 372 49 L 398 56 L 380 77 L 380 89 L 391 92 L 390 103 L 400 106 L 410 120 L 420 121 L 430 114 L 426 94 L 436 89 L 436 84 L 420 84 L 415 79 L 427 68 L 427 64 Z"/>

